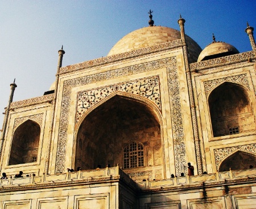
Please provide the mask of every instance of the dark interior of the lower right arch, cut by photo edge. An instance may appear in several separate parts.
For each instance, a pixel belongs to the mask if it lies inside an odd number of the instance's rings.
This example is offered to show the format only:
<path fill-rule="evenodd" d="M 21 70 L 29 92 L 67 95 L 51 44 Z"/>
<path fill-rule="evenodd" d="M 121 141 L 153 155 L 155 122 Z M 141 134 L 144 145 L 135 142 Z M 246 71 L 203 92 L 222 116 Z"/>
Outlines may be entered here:
<path fill-rule="evenodd" d="M 250 165 L 255 168 L 256 156 L 247 152 L 237 151 L 221 163 L 219 172 L 228 171 L 229 168 L 232 170 L 249 169 Z"/>

